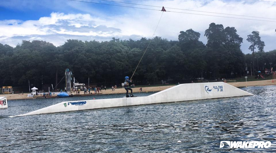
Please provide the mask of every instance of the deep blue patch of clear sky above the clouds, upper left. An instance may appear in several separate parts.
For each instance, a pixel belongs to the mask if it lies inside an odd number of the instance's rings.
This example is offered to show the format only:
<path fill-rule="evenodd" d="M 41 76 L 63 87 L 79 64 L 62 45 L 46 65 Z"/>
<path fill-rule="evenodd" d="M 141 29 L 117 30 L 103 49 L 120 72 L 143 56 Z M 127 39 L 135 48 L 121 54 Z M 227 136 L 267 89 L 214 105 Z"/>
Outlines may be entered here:
<path fill-rule="evenodd" d="M 49 16 L 52 12 L 65 14 L 97 14 L 120 15 L 124 14 L 124 7 L 108 6 L 67 0 L 1 0 L 0 20 L 38 20 L 40 17 Z M 4 1 L 4 2 L 3 2 Z M 78 0 L 77 0 L 78 1 Z M 103 4 L 124 5 L 121 3 L 105 2 L 100 0 L 79 0 Z M 120 1 L 120 0 L 119 0 Z M 124 1 L 136 3 L 136 1 Z M 140 1 L 141 2 L 141 1 Z"/>

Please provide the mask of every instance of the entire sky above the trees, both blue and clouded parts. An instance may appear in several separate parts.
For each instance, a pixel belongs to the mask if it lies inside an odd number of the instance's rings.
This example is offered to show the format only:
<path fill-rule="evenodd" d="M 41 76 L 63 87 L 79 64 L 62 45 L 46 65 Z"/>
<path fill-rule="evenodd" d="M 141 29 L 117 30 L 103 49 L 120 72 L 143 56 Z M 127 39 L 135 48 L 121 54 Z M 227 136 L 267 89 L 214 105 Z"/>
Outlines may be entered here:
<path fill-rule="evenodd" d="M 127 5 L 100 0 L 82 1 Z M 274 0 L 117 1 L 164 6 L 165 8 L 172 7 L 276 18 L 276 1 Z M 135 5 L 133 7 L 149 8 Z M 216 15 L 184 10 L 172 11 Z M 141 37 L 151 38 L 160 15 L 161 11 L 106 6 L 68 0 L 1 0 L 0 43 L 9 44 L 14 47 L 24 39 L 48 41 L 59 46 L 64 44 L 67 39 L 108 41 L 112 37 L 120 39 L 131 38 L 134 40 L 138 40 Z M 260 32 L 261 39 L 266 44 L 265 51 L 276 49 L 276 22 L 164 12 L 160 25 L 156 30 L 156 36 L 161 36 L 168 40 L 177 40 L 180 31 L 192 28 L 194 31 L 201 33 L 200 40 L 206 43 L 204 31 L 212 22 L 222 24 L 224 27 L 235 27 L 237 33 L 243 37 L 241 49 L 244 53 L 250 53 L 248 50 L 250 44 L 246 41 L 246 38 L 252 31 Z"/>

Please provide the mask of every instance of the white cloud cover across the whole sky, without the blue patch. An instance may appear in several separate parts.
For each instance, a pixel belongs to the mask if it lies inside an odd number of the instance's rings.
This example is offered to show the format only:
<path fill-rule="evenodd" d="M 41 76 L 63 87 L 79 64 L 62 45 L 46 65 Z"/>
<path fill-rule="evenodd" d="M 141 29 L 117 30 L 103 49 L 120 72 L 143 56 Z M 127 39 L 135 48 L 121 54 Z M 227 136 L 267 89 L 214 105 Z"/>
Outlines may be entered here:
<path fill-rule="evenodd" d="M 222 0 L 165 0 L 144 1 L 144 4 L 165 6 L 167 11 L 194 14 L 226 16 L 223 14 L 173 10 L 168 9 L 168 7 L 276 18 L 276 2 L 274 1 L 251 1 L 249 3 L 248 1 Z M 74 7 L 76 6 L 81 6 L 81 4 L 78 3 Z M 88 7 L 89 6 L 86 5 L 84 8 L 87 9 Z M 118 9 L 120 9 L 120 7 L 118 7 Z M 89 14 L 64 14 L 54 12 L 49 17 L 41 17 L 39 20 L 2 20 L 0 21 L 0 43 L 15 46 L 20 43 L 22 39 L 39 39 L 52 42 L 55 45 L 62 45 L 67 39 L 87 41 L 96 39 L 98 41 L 105 41 L 110 40 L 112 37 L 120 39 L 132 38 L 136 40 L 141 37 L 151 38 L 162 14 L 161 11 L 158 12 L 152 10 L 124 8 L 124 14 L 111 16 L 106 15 L 106 11 L 107 10 L 100 11 L 100 9 L 97 9 L 97 12 L 94 11 L 93 14 L 90 13 L 91 10 L 87 11 Z M 164 12 L 155 35 L 169 40 L 177 40 L 179 31 L 185 31 L 192 28 L 193 30 L 201 33 L 200 40 L 206 43 L 204 31 L 209 27 L 210 23 L 214 22 L 216 24 L 222 24 L 224 27 L 235 27 L 237 29 L 237 33 L 244 38 L 242 49 L 245 53 L 250 52 L 248 51 L 249 44 L 246 42 L 246 38 L 252 31 L 260 32 L 262 40 L 266 43 L 266 51 L 276 48 L 274 43 L 276 40 L 275 22 L 242 20 L 194 14 Z M 250 18 L 233 15 L 230 17 Z M 254 19 L 276 21 L 264 18 Z"/>

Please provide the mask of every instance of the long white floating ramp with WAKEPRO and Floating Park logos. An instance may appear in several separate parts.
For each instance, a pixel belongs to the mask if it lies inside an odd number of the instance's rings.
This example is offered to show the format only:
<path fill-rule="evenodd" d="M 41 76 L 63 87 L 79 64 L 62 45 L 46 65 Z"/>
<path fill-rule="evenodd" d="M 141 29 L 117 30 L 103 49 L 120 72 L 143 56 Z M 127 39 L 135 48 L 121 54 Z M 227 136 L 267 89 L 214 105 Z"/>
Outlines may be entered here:
<path fill-rule="evenodd" d="M 236 88 L 232 85 L 226 84 L 224 82 L 179 84 L 149 96 L 83 101 L 64 101 L 19 116 L 251 95 L 253 94 Z"/>

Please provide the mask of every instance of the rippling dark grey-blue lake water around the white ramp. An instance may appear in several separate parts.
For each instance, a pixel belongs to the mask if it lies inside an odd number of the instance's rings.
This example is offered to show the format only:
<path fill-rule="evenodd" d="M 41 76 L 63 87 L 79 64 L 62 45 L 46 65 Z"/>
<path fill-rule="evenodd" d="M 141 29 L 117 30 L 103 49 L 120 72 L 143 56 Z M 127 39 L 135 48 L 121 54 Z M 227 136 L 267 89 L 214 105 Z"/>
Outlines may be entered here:
<path fill-rule="evenodd" d="M 276 152 L 276 86 L 241 89 L 255 96 L 13 118 L 7 116 L 62 101 L 125 94 L 8 100 L 9 108 L 0 109 L 0 152 Z M 230 149 L 227 144 L 219 148 L 220 141 L 272 144 L 268 149 Z"/>

